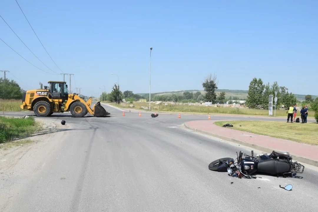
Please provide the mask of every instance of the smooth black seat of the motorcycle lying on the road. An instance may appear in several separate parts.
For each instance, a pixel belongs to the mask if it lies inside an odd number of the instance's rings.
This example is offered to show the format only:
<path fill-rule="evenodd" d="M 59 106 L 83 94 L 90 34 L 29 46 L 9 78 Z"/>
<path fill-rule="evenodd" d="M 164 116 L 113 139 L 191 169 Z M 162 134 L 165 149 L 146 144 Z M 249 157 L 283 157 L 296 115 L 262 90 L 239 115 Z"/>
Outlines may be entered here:
<path fill-rule="evenodd" d="M 288 173 L 291 170 L 290 163 L 277 161 L 275 159 L 267 159 L 258 163 L 258 171 L 266 174 Z"/>

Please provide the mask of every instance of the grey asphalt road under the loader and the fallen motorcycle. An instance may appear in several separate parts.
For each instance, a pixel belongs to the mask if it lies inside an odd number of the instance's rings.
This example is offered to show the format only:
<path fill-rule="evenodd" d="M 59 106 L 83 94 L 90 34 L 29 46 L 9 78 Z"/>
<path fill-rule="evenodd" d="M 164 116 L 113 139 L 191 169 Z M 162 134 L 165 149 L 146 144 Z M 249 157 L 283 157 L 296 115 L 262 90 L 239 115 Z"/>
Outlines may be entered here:
<path fill-rule="evenodd" d="M 60 132 L 52 135 L 45 155 L 44 150 L 30 150 L 27 155 L 35 158 L 23 157 L 13 170 L 20 174 L 0 179 L 2 189 L 13 193 L 3 211 L 318 209 L 316 168 L 306 166 L 301 178 L 232 178 L 210 171 L 209 163 L 251 149 L 182 127 L 185 121 L 206 116 L 178 119 L 177 114 L 161 113 L 151 118 L 127 112 L 123 117 L 121 111 L 104 107 L 110 117 L 72 118 L 66 113 L 47 118 Z M 220 118 L 233 119 L 211 117 Z M 65 126 L 59 125 L 63 119 Z M 287 184 L 293 185 L 292 191 L 279 188 Z"/>

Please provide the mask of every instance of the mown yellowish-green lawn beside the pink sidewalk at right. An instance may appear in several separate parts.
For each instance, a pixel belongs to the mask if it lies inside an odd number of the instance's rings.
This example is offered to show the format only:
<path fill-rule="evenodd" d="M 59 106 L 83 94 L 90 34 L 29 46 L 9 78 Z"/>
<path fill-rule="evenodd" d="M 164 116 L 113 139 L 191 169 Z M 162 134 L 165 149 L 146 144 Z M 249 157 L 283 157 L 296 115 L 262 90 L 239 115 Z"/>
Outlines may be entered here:
<path fill-rule="evenodd" d="M 318 145 L 318 124 L 308 122 L 287 123 L 278 121 L 216 121 L 214 124 L 222 127 L 230 123 L 231 129 L 255 133 L 259 135 L 267 135 L 274 138 L 292 140 L 299 143 Z M 242 127 L 240 127 L 240 125 Z"/>

